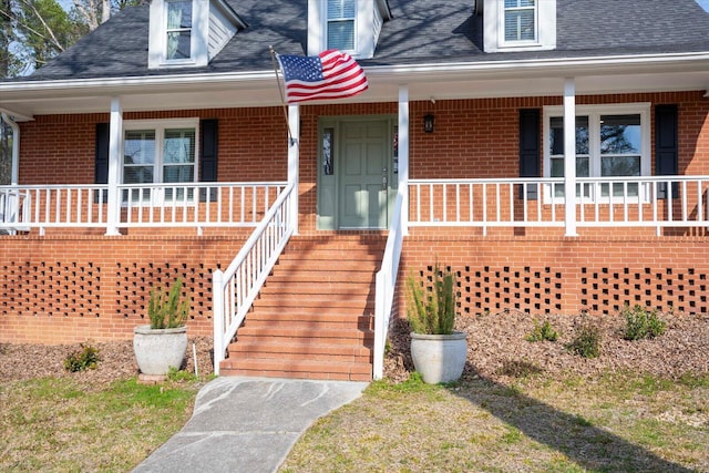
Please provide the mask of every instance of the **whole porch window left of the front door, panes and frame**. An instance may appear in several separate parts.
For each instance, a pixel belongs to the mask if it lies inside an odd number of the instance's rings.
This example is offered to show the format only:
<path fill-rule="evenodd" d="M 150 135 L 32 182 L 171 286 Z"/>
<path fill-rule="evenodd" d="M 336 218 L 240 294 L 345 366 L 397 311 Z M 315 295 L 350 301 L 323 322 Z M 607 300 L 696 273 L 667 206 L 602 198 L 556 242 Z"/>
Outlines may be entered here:
<path fill-rule="evenodd" d="M 196 178 L 197 121 L 134 122 L 126 125 L 123 143 L 123 184 L 194 183 Z M 192 198 L 192 189 L 165 189 L 164 200 Z M 150 191 L 131 189 L 131 200 L 155 202 Z M 127 194 L 124 195 L 124 200 Z"/>

